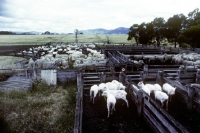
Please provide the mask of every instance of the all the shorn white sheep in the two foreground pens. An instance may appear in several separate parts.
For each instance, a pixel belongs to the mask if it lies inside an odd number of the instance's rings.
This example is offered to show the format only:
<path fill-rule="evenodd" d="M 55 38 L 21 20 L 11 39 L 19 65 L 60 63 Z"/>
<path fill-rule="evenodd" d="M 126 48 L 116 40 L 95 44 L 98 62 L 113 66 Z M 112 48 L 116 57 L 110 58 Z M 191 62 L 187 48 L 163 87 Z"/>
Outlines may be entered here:
<path fill-rule="evenodd" d="M 161 107 L 166 103 L 166 110 L 168 110 L 168 101 L 171 101 L 172 96 L 175 94 L 176 88 L 168 83 L 163 84 L 161 87 L 159 84 L 144 84 L 140 81 L 137 85 L 132 84 L 135 90 L 142 89 L 147 95 L 154 94 L 156 101 L 161 103 Z M 122 99 L 126 102 L 127 108 L 129 107 L 128 100 L 126 98 L 127 92 L 125 91 L 126 86 L 117 80 L 111 82 L 95 84 L 90 88 L 90 100 L 94 104 L 94 99 L 100 96 L 107 97 L 107 110 L 108 116 L 115 110 L 115 104 L 117 99 Z"/>

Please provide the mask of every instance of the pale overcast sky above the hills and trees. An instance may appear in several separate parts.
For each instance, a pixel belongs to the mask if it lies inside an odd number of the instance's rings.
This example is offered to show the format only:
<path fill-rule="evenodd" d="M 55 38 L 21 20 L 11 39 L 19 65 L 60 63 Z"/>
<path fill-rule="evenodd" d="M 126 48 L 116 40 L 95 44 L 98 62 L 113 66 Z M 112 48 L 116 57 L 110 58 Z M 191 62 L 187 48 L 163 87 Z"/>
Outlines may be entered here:
<path fill-rule="evenodd" d="M 200 0 L 0 0 L 0 31 L 73 33 L 188 16 Z"/>

